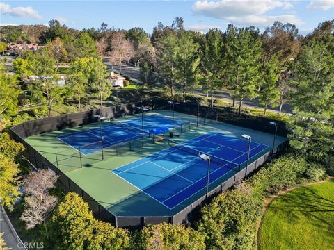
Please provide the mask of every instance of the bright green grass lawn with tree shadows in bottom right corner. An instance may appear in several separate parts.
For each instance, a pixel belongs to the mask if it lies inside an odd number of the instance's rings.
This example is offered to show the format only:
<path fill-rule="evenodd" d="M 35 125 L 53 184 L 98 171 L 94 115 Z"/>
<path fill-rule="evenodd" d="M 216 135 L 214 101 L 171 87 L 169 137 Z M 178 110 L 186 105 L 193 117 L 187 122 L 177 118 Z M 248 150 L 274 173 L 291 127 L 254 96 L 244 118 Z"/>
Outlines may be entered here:
<path fill-rule="evenodd" d="M 334 249 L 334 180 L 277 197 L 264 215 L 259 249 Z"/>

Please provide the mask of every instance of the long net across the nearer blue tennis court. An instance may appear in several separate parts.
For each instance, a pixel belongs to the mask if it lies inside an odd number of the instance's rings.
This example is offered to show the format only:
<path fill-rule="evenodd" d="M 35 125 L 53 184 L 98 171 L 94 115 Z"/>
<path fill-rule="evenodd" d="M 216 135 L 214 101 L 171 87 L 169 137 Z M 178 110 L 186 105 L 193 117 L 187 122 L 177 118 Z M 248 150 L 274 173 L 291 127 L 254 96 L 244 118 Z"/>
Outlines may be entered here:
<path fill-rule="evenodd" d="M 214 156 L 211 153 L 207 153 L 206 151 L 199 151 L 197 149 L 193 149 L 193 148 L 189 147 L 189 145 L 182 144 L 180 142 L 176 142 L 176 141 L 170 140 L 170 139 L 168 139 L 168 145 L 170 147 L 175 147 L 176 149 L 180 149 L 180 150 L 185 151 L 187 153 L 191 153 L 195 156 L 200 156 L 202 153 L 205 153 L 207 156 L 210 156 L 210 158 L 211 158 L 210 160 L 212 161 L 212 163 L 216 163 L 216 164 L 218 164 L 222 167 L 227 167 L 228 169 L 232 169 L 236 172 L 238 172 L 239 169 L 240 169 L 240 165 L 237 164 L 237 163 L 233 163 L 230 160 L 225 160 L 225 159 L 220 158 L 218 156 Z"/>

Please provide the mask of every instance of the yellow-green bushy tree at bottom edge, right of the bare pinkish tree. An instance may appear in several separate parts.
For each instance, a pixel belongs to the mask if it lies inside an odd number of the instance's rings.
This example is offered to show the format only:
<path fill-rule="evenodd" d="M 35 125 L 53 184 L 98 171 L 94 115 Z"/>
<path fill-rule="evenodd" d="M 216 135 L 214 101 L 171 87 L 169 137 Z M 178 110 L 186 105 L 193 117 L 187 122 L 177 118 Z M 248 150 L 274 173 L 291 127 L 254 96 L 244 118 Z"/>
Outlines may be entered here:
<path fill-rule="evenodd" d="M 93 217 L 78 194 L 68 193 L 48 222 L 55 249 L 126 249 L 129 232 Z"/>

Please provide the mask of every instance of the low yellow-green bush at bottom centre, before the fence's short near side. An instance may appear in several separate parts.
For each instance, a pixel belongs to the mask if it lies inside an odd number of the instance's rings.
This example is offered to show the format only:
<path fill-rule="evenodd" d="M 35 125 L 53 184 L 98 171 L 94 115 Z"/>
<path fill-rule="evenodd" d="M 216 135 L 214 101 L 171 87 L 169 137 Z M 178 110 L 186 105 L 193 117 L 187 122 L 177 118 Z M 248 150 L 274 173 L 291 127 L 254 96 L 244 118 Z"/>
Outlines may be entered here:
<path fill-rule="evenodd" d="M 204 235 L 184 225 L 148 225 L 138 238 L 138 249 L 205 249 Z"/>

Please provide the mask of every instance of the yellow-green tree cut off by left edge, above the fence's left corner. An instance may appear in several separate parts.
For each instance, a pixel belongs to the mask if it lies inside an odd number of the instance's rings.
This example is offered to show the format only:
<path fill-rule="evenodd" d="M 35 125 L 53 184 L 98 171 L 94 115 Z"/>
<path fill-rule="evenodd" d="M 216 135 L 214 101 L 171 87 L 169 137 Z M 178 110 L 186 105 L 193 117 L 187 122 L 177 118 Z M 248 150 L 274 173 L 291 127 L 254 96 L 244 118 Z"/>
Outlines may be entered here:
<path fill-rule="evenodd" d="M 11 76 L 5 68 L 3 60 L 0 62 L 0 115 L 13 116 L 17 113 L 17 98 L 19 86 L 17 78 Z"/>

